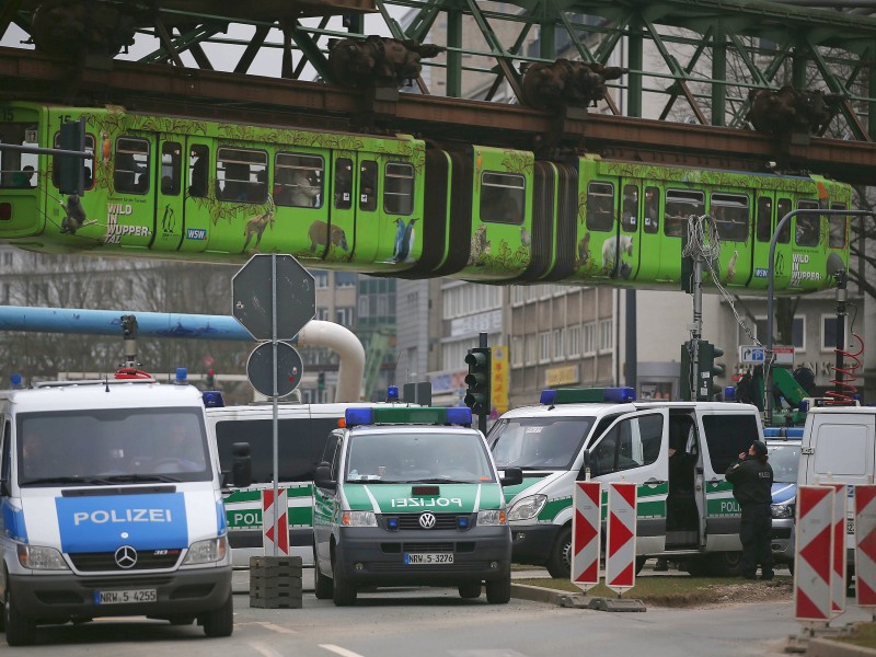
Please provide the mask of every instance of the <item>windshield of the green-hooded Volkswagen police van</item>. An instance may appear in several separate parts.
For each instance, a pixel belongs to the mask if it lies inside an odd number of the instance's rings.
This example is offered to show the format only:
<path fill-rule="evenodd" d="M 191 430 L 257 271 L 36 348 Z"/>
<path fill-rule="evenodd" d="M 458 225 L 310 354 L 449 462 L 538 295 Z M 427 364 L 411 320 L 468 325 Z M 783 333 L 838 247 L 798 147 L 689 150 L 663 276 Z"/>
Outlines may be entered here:
<path fill-rule="evenodd" d="M 477 434 L 402 433 L 350 436 L 347 482 L 495 482 Z"/>

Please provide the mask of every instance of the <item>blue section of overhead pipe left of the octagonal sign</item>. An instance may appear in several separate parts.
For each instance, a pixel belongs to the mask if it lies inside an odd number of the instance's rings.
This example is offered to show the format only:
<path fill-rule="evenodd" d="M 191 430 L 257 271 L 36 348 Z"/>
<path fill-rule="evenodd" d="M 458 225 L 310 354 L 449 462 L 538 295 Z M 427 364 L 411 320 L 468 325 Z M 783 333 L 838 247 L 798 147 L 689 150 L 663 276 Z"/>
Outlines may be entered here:
<path fill-rule="evenodd" d="M 77 333 L 122 337 L 122 315 L 137 318 L 137 337 L 180 337 L 255 342 L 230 315 L 166 312 L 20 308 L 0 306 L 0 331 Z"/>

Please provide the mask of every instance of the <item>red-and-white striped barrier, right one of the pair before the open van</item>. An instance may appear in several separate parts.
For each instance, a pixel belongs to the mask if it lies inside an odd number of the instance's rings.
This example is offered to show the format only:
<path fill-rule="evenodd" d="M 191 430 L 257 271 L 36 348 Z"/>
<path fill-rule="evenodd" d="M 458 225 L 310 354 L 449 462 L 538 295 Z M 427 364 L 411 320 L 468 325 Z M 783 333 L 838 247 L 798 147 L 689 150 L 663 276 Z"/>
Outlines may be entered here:
<path fill-rule="evenodd" d="M 636 583 L 636 485 L 609 482 L 606 586 L 623 593 Z"/>

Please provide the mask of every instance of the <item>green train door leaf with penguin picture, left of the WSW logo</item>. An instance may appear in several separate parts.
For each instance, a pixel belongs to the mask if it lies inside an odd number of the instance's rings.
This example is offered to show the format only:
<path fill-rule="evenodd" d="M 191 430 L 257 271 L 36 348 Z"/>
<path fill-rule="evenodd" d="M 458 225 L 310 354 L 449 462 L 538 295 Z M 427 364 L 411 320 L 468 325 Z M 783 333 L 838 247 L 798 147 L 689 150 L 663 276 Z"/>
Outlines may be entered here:
<path fill-rule="evenodd" d="M 183 240 L 183 140 L 178 137 L 158 141 L 155 178 L 155 234 L 152 249 L 176 251 Z"/>

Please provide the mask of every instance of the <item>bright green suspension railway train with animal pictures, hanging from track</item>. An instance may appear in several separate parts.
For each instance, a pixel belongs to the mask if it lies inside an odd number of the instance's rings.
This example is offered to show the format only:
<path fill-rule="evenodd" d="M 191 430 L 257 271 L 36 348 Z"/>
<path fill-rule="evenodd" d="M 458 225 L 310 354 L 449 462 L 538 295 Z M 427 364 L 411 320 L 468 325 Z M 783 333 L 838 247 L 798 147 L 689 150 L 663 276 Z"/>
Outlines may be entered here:
<path fill-rule="evenodd" d="M 289 253 L 308 267 L 485 284 L 679 289 L 691 216 L 708 215 L 730 291 L 831 287 L 849 262 L 846 184 L 471 145 L 127 112 L 0 103 L 0 141 L 59 146 L 85 120 L 85 192 L 64 197 L 48 154 L 0 150 L 0 242 L 43 253 L 242 264 Z M 33 172 L 23 171 L 32 166 Z"/>

